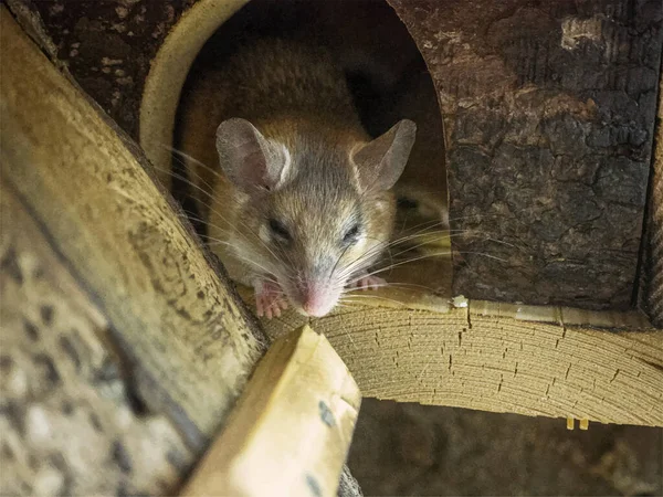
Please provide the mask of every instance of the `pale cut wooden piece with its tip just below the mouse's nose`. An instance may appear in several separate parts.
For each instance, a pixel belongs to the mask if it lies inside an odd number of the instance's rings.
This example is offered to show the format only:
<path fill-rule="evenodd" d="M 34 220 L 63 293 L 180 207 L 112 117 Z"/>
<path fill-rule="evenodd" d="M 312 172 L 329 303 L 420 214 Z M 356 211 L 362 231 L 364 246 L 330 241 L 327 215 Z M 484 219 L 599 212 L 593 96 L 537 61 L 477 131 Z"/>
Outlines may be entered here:
<path fill-rule="evenodd" d="M 182 495 L 336 495 L 360 401 L 323 335 L 281 337 Z"/>

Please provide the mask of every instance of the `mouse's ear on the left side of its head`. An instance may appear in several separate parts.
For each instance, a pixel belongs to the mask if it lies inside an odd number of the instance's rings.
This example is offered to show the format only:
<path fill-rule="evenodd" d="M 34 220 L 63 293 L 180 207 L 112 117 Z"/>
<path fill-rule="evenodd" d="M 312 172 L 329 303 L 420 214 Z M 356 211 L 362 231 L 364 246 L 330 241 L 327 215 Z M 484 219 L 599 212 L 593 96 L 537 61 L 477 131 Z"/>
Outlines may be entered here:
<path fill-rule="evenodd" d="M 281 182 L 285 149 L 246 119 L 232 118 L 219 125 L 217 152 L 223 172 L 242 190 L 274 190 Z"/>

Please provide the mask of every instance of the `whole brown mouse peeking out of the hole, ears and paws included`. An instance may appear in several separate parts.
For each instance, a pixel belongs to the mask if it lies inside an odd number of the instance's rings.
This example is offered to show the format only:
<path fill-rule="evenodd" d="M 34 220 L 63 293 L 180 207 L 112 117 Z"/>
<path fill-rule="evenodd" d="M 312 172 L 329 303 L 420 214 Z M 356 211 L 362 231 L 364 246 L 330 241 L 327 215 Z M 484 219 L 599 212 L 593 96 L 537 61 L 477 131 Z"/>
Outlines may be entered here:
<path fill-rule="evenodd" d="M 392 187 L 417 126 L 362 127 L 341 67 L 322 45 L 262 39 L 201 72 L 181 98 L 179 141 L 207 244 L 253 287 L 259 317 L 332 311 L 376 288 Z"/>

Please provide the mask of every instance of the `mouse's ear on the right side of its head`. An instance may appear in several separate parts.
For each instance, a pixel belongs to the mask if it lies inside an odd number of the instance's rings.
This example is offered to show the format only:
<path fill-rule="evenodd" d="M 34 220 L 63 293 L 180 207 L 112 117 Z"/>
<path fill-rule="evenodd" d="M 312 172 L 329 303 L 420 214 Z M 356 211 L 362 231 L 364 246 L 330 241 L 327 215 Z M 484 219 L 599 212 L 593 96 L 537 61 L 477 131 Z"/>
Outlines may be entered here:
<path fill-rule="evenodd" d="M 417 125 L 402 119 L 352 154 L 361 190 L 389 190 L 400 178 L 414 145 Z"/>

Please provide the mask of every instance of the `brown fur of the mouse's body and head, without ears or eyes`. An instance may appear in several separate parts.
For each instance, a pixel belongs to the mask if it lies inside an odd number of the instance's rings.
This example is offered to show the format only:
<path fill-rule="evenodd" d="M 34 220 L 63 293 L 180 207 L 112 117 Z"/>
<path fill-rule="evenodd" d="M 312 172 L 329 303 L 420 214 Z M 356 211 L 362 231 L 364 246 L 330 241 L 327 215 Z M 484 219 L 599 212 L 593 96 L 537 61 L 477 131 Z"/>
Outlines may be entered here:
<path fill-rule="evenodd" d="M 254 284 L 276 276 L 296 302 L 297 281 L 367 254 L 358 268 L 375 262 L 392 231 L 394 201 L 390 191 L 361 184 L 351 154 L 370 139 L 324 50 L 274 40 L 248 45 L 223 70 L 202 74 L 182 106 L 179 148 L 204 165 L 187 166 L 209 235 L 220 241 L 211 246 L 232 277 Z M 275 191 L 241 191 L 221 172 L 215 130 L 233 117 L 291 150 L 292 170 Z M 287 226 L 290 246 L 265 240 L 271 218 Z M 355 220 L 364 244 L 347 248 L 340 240 Z M 329 285 L 343 286 L 349 276 Z"/>

